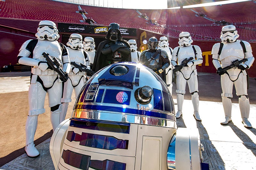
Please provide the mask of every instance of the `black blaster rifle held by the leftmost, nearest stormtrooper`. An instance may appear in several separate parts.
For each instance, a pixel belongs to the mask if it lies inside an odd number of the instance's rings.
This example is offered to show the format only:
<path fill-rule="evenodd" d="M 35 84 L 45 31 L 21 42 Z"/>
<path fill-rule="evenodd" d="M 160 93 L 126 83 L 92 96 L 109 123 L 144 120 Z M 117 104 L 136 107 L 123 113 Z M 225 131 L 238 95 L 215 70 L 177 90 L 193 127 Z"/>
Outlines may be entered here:
<path fill-rule="evenodd" d="M 44 58 L 47 61 L 47 64 L 49 65 L 50 69 L 56 71 L 59 75 L 60 75 L 60 80 L 63 82 L 66 82 L 68 80 L 68 74 L 65 73 L 62 70 L 62 65 L 61 63 L 56 59 L 56 57 L 52 57 L 49 54 L 47 54 L 46 52 L 43 52 L 42 54 L 44 56 Z"/>

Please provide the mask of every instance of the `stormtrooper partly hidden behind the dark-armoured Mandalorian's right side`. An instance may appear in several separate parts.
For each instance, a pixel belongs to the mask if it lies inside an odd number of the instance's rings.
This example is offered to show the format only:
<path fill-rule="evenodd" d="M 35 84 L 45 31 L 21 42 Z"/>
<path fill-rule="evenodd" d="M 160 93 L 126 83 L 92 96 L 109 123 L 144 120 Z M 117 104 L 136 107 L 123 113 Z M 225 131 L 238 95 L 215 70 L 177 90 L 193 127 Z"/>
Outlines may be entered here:
<path fill-rule="evenodd" d="M 160 37 L 159 43 L 158 43 L 158 49 L 164 50 L 167 53 L 169 60 L 170 61 L 172 60 L 172 48 L 169 47 L 169 42 L 167 37 L 165 36 Z M 166 85 L 172 95 L 172 65 L 170 65 L 165 70 L 165 74 L 166 74 Z"/>

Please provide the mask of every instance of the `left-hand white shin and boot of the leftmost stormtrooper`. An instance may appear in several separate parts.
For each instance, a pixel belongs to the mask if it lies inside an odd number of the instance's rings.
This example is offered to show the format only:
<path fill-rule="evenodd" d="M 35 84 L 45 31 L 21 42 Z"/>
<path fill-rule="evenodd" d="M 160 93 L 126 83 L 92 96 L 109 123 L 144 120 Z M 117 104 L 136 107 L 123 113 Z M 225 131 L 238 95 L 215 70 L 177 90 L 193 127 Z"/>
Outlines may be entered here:
<path fill-rule="evenodd" d="M 25 152 L 27 153 L 28 157 L 35 158 L 39 156 L 39 152 L 37 151 L 35 144 L 34 144 L 34 136 L 36 133 L 37 127 L 37 117 L 38 115 L 28 116 L 26 122 L 26 146 Z"/>

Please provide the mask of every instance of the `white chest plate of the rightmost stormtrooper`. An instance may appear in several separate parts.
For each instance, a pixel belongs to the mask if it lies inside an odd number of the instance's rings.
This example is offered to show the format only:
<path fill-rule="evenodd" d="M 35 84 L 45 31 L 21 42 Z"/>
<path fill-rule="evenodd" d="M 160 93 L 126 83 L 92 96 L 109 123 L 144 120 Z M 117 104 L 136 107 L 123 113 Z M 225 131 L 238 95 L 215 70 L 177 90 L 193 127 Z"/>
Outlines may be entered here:
<path fill-rule="evenodd" d="M 220 62 L 221 62 L 221 60 L 223 60 L 227 57 L 230 57 L 230 56 L 234 56 L 236 59 L 237 59 L 237 57 L 240 59 L 244 58 L 243 48 L 238 41 L 232 42 L 232 43 L 225 43 L 223 45 L 223 48 L 220 53 Z"/>

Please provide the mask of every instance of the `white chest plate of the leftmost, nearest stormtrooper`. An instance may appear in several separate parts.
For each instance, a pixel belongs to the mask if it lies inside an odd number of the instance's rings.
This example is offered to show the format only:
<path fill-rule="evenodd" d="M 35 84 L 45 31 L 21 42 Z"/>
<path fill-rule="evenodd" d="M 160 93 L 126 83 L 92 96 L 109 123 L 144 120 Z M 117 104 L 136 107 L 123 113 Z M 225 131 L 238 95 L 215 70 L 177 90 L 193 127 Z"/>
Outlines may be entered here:
<path fill-rule="evenodd" d="M 58 41 L 38 40 L 33 51 L 33 58 L 40 61 L 46 61 L 42 55 L 43 52 L 48 53 L 52 57 L 56 57 L 62 63 L 62 52 Z"/>

